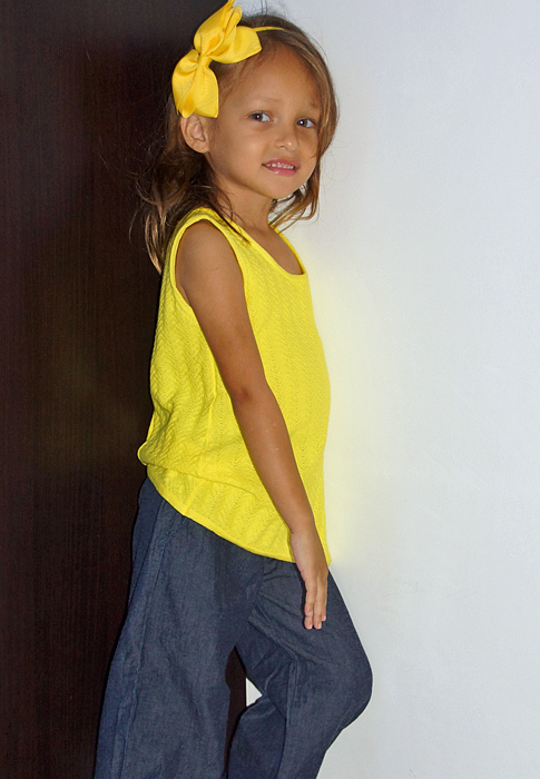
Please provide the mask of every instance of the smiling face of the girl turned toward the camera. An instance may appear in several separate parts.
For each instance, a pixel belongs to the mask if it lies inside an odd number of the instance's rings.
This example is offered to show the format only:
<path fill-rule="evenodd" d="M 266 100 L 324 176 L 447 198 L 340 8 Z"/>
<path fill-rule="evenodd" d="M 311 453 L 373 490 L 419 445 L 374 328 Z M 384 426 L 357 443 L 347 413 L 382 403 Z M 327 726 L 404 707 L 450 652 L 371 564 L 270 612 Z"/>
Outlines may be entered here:
<path fill-rule="evenodd" d="M 317 161 L 320 116 L 313 77 L 289 49 L 248 63 L 206 126 L 206 158 L 236 213 L 269 209 L 307 181 Z"/>

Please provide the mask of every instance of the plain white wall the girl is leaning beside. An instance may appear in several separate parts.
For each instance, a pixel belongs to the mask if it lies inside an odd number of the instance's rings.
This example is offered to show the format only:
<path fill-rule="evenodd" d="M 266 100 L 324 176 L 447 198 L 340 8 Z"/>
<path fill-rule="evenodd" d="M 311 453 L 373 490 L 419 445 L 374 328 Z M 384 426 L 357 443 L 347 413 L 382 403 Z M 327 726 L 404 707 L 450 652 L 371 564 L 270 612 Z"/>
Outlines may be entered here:
<path fill-rule="evenodd" d="M 536 779 L 540 6 L 286 6 L 341 101 L 292 236 L 333 382 L 333 570 L 375 674 L 321 778 Z"/>

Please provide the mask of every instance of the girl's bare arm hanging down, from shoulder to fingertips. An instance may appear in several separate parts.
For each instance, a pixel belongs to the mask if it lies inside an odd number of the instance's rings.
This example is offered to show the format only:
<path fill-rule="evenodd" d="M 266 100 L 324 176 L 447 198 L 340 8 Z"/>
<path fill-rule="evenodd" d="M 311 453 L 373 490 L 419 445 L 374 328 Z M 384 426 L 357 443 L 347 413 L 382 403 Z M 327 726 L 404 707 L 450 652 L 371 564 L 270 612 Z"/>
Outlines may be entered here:
<path fill-rule="evenodd" d="M 178 248 L 176 284 L 208 342 L 261 481 L 291 530 L 306 588 L 304 624 L 320 629 L 326 619 L 328 568 L 285 421 L 266 382 L 242 272 L 227 240 L 208 221 L 186 230 Z"/>

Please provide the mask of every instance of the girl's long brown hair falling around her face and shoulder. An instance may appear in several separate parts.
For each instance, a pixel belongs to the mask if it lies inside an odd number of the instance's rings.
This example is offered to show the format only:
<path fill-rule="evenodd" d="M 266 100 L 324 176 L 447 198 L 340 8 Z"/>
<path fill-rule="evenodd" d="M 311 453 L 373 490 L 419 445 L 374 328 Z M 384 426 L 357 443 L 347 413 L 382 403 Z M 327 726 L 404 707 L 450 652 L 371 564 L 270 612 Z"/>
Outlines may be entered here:
<path fill-rule="evenodd" d="M 289 197 L 274 201 L 271 209 L 273 225 L 310 219 L 318 205 L 321 158 L 332 141 L 337 122 L 332 77 L 313 41 L 288 20 L 265 13 L 244 17 L 240 23 L 246 27 L 279 29 L 258 32 L 262 46 L 259 55 L 237 65 L 212 63 L 222 95 L 234 88 L 235 77 L 242 75 L 244 67 L 251 67 L 252 62 L 255 65 L 255 60 L 258 65 L 261 57 L 274 53 L 282 46 L 291 49 L 306 66 L 317 88 L 321 101 L 317 162 L 304 186 Z M 147 180 L 146 191 L 143 187 L 139 190 L 144 201 L 146 245 L 151 262 L 161 270 L 173 230 L 190 210 L 205 206 L 228 221 L 219 201 L 222 199 L 223 203 L 223 195 L 217 189 L 210 166 L 204 155 L 192 149 L 184 140 L 173 97 L 166 108 L 165 144 L 154 155 Z"/>

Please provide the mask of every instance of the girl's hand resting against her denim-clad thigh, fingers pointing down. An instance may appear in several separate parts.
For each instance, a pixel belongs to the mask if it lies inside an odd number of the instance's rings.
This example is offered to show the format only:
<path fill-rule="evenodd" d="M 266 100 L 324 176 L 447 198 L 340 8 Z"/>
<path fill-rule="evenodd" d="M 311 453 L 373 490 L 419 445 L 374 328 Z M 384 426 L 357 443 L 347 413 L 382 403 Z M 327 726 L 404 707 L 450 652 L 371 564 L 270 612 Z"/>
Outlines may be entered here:
<path fill-rule="evenodd" d="M 291 545 L 306 589 L 304 625 L 321 630 L 326 619 L 328 566 L 315 525 L 293 531 Z"/>

